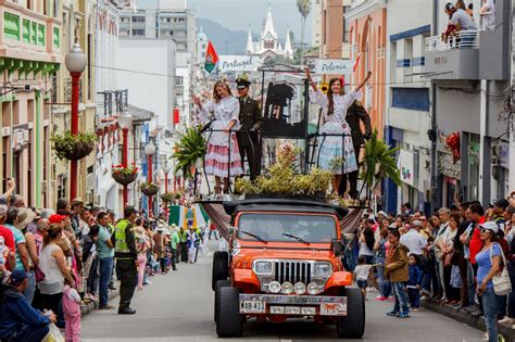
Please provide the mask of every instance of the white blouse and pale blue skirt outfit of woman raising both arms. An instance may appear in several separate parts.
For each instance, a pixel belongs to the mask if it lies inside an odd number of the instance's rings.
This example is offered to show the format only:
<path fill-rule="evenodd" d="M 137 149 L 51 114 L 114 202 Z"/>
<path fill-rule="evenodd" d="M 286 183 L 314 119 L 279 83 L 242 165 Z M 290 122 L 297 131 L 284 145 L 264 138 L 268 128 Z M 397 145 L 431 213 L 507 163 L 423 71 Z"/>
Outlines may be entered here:
<path fill-rule="evenodd" d="M 310 99 L 317 103 L 324 113 L 324 125 L 319 130 L 321 137 L 319 150 L 316 152 L 316 162 L 319 168 L 329 169 L 335 175 L 349 174 L 357 169 L 357 161 L 352 144 L 351 129 L 346 121 L 347 110 L 356 99 L 357 93 L 350 91 L 344 96 L 334 94 L 334 111 L 328 115 L 329 99 L 319 89 L 315 92 L 310 88 Z M 326 135 L 346 135 L 344 138 Z M 332 169 L 332 161 L 337 157 L 343 157 L 344 163 L 341 167 Z"/>

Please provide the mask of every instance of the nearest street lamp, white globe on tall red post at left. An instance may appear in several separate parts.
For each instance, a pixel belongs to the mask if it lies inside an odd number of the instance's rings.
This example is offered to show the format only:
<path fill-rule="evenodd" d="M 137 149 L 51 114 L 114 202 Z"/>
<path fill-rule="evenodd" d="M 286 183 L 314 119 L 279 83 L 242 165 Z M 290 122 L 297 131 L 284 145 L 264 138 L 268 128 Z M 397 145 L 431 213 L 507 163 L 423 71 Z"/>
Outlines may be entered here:
<path fill-rule="evenodd" d="M 66 54 L 64 64 L 72 76 L 72 135 L 78 135 L 78 101 L 80 91 L 80 75 L 87 65 L 86 54 L 80 49 L 77 39 L 72 50 Z M 77 161 L 72 161 L 70 165 L 70 198 L 77 197 Z"/>

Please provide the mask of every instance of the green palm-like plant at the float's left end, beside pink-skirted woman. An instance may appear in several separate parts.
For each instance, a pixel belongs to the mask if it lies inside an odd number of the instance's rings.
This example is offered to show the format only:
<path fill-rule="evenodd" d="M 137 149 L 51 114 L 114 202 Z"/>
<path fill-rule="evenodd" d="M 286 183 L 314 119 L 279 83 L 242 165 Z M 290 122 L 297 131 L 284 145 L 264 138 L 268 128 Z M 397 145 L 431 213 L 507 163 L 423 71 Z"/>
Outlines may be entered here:
<path fill-rule="evenodd" d="M 202 126 L 186 128 L 185 134 L 179 135 L 177 150 L 172 155 L 176 160 L 174 173 L 181 170 L 185 178 L 193 178 L 191 167 L 201 167 L 205 155 L 205 143 Z"/>

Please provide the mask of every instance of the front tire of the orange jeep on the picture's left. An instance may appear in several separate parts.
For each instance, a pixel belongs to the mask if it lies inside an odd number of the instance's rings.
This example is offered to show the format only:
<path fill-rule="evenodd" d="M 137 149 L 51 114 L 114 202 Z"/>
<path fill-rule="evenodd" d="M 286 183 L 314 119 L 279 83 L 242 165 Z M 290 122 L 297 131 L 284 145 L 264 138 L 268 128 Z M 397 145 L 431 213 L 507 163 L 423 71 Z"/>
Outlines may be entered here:
<path fill-rule="evenodd" d="M 240 290 L 235 287 L 219 288 L 216 334 L 218 338 L 238 338 L 243 333 L 243 317 L 240 315 Z"/>

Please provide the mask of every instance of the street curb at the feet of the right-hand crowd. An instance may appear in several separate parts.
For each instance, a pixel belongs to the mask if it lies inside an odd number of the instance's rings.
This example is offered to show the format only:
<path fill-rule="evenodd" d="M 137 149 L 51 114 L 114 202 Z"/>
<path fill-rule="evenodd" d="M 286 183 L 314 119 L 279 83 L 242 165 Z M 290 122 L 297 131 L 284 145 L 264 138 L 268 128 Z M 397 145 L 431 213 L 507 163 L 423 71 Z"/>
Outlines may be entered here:
<path fill-rule="evenodd" d="M 457 321 L 464 322 L 478 330 L 481 330 L 481 331 L 487 330 L 487 326 L 485 325 L 485 319 L 482 317 L 473 317 L 463 311 L 456 312 L 456 309 L 454 309 L 450 305 L 441 305 L 441 304 L 436 304 L 434 302 L 427 302 L 427 301 L 420 301 L 420 304 L 423 307 L 427 309 L 430 309 L 440 315 L 450 317 Z M 515 341 L 515 329 L 512 329 L 512 327 L 498 324 L 498 332 L 504 337 L 505 341 Z"/>

